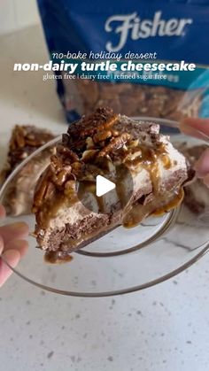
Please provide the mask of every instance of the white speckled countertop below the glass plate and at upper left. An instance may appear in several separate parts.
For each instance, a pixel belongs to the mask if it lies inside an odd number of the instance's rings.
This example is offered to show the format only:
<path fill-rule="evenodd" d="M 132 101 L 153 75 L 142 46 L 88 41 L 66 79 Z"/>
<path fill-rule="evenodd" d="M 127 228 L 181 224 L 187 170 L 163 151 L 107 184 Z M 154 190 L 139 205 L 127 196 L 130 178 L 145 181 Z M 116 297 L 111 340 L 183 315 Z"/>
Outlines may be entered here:
<path fill-rule="evenodd" d="M 13 73 L 44 61 L 38 27 L 0 39 L 0 158 L 15 123 L 66 128 L 51 81 Z M 174 279 L 115 298 L 70 298 L 12 275 L 0 290 L 0 369 L 208 371 L 209 256 Z"/>

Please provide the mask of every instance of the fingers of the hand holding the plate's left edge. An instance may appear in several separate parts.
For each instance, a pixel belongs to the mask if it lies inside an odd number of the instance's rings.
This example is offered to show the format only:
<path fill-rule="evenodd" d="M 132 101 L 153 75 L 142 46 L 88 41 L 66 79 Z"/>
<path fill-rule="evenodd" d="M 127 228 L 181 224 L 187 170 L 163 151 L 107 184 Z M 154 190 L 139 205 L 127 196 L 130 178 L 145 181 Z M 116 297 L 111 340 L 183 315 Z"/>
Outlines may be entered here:
<path fill-rule="evenodd" d="M 0 218 L 4 218 L 5 210 L 0 205 Z M 16 267 L 25 253 L 27 252 L 27 241 L 24 238 L 28 236 L 28 227 L 26 223 L 20 222 L 0 227 L 0 287 L 12 274 L 4 260 L 11 266 Z M 1 259 L 1 257 L 3 259 Z"/>

